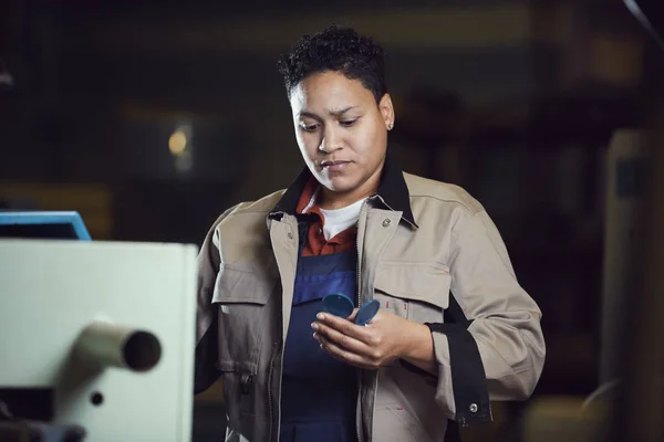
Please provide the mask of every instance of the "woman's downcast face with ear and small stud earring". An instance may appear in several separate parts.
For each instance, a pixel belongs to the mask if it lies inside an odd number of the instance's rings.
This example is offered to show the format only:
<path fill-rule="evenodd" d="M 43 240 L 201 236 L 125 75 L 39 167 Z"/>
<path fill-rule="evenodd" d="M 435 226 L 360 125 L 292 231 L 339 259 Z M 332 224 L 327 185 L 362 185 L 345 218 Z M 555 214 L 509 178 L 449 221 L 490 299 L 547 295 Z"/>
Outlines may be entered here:
<path fill-rule="evenodd" d="M 373 193 L 394 122 L 390 95 L 376 105 L 360 81 L 323 72 L 300 82 L 290 104 L 300 151 L 323 186 L 323 202 L 344 207 Z"/>

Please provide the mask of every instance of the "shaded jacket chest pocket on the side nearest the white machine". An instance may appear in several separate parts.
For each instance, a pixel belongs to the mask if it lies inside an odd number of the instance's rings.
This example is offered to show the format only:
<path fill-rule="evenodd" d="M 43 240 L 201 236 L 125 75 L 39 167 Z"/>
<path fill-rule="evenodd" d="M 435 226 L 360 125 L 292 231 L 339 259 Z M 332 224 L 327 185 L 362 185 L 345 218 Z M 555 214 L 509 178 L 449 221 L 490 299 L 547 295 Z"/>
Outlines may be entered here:
<path fill-rule="evenodd" d="M 274 277 L 229 265 L 219 272 L 212 304 L 218 307 L 221 371 L 257 373 L 277 283 Z"/>

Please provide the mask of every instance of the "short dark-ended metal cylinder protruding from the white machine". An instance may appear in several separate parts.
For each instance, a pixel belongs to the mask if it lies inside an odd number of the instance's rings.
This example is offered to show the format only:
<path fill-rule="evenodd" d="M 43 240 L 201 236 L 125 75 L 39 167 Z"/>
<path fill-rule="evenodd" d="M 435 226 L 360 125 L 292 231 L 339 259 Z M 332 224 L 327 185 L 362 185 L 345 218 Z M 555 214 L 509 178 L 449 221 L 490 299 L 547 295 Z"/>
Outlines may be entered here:
<path fill-rule="evenodd" d="M 76 341 L 76 355 L 97 367 L 149 371 L 162 358 L 162 345 L 146 330 L 95 320 Z"/>

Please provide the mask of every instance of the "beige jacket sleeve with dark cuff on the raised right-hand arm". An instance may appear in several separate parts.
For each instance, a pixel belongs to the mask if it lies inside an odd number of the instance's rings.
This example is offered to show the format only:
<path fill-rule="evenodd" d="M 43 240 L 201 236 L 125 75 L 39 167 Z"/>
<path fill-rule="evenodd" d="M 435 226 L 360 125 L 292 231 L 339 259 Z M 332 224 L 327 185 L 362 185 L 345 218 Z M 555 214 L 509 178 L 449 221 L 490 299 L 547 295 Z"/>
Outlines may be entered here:
<path fill-rule="evenodd" d="M 487 212 L 460 211 L 452 230 L 454 324 L 429 325 L 438 362 L 436 401 L 461 425 L 492 419 L 489 400 L 526 400 L 541 375 L 541 312 L 517 282 Z M 464 320 L 466 319 L 466 320 Z"/>

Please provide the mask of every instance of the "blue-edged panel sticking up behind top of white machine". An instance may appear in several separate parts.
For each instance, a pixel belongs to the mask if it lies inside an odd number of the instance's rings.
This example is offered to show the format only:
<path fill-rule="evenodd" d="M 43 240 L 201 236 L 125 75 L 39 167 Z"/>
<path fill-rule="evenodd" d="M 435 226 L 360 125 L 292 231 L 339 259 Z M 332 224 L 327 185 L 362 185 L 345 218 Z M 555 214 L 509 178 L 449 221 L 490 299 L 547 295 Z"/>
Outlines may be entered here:
<path fill-rule="evenodd" d="M 92 240 L 83 219 L 74 211 L 0 212 L 0 230 L 2 236 Z"/>

